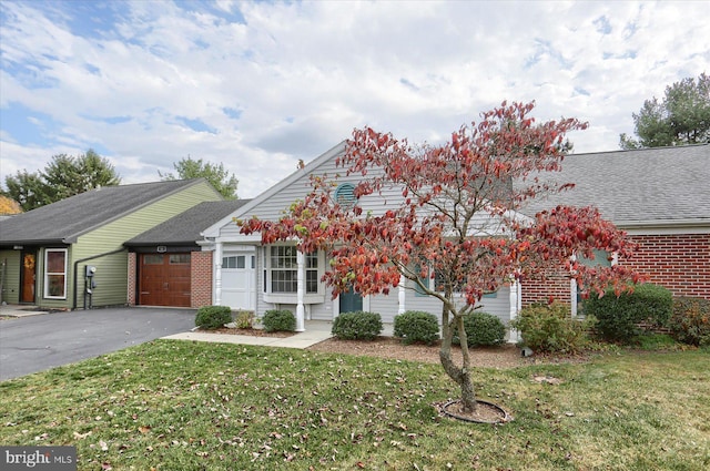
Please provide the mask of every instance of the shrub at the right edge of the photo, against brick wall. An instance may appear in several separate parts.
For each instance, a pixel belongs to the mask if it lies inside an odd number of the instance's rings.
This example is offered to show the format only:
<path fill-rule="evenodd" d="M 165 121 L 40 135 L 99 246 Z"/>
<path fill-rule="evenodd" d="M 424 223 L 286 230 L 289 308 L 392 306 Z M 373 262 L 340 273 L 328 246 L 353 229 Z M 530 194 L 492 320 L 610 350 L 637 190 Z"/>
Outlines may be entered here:
<path fill-rule="evenodd" d="M 687 296 L 674 298 L 668 327 L 678 341 L 710 346 L 710 300 Z"/>

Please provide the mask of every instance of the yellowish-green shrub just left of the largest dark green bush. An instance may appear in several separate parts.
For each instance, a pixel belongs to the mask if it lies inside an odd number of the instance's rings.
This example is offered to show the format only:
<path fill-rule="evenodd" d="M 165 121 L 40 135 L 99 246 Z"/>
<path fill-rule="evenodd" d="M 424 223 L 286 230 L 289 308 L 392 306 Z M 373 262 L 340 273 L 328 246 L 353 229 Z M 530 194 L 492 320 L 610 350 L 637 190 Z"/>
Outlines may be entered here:
<path fill-rule="evenodd" d="M 523 345 L 534 351 L 547 354 L 576 354 L 589 342 L 587 330 L 596 321 L 594 317 L 578 320 L 561 303 L 535 304 L 520 310 L 510 327 L 517 329 Z"/>

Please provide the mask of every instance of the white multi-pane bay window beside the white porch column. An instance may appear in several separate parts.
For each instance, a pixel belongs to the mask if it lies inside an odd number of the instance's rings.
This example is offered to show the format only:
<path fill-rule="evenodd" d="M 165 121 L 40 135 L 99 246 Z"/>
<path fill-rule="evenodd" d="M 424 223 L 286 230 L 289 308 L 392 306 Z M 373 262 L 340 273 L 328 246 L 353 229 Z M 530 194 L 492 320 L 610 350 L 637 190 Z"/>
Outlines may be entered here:
<path fill-rule="evenodd" d="M 276 245 L 270 247 L 270 256 L 264 270 L 264 287 L 268 286 L 266 279 L 271 275 L 270 293 L 293 293 L 298 289 L 298 264 L 296 260 L 296 247 L 293 245 Z M 254 260 L 252 259 L 252 264 Z M 318 293 L 318 256 L 305 255 L 305 293 Z"/>

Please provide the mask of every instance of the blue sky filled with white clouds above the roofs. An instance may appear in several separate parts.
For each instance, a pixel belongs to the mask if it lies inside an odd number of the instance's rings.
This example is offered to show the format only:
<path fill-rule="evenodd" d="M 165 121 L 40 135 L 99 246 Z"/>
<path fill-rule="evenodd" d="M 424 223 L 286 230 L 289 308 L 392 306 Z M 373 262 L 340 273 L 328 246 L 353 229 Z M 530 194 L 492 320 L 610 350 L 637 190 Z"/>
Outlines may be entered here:
<path fill-rule="evenodd" d="M 503 100 L 575 152 L 710 72 L 707 1 L 0 2 L 0 177 L 94 149 L 123 183 L 184 157 L 253 197 L 354 127 L 438 143 Z"/>

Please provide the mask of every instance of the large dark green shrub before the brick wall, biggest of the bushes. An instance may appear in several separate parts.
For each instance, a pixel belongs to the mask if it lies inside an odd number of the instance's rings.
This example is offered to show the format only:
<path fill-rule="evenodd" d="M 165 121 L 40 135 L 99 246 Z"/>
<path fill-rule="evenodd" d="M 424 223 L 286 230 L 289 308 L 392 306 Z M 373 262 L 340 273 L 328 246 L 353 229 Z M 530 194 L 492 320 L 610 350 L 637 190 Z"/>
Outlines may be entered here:
<path fill-rule="evenodd" d="M 584 311 L 597 318 L 595 327 L 602 338 L 629 344 L 642 331 L 640 322 L 650 327 L 666 326 L 672 304 L 673 297 L 668 289 L 645 284 L 619 297 L 611 289 L 602 297 L 591 296 L 585 301 Z"/>

